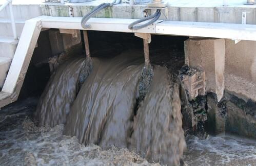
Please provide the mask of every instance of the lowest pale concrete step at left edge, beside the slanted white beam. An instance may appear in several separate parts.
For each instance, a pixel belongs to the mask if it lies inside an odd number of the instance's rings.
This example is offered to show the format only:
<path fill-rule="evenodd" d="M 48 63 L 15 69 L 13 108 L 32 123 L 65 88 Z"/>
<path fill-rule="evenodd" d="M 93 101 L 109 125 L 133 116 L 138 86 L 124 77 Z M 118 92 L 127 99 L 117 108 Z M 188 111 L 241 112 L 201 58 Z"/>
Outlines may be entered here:
<path fill-rule="evenodd" d="M 2 88 L 5 83 L 5 79 L 10 68 L 11 61 L 11 58 L 0 57 L 0 88 Z"/>

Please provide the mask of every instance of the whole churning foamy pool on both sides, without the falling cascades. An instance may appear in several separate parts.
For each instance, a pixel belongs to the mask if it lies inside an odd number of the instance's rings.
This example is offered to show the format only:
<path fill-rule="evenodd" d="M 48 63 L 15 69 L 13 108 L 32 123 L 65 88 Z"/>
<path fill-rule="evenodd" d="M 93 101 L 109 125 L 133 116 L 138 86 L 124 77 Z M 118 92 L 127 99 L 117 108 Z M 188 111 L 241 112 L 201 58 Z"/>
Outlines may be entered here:
<path fill-rule="evenodd" d="M 160 165 L 151 164 L 126 148 L 103 150 L 81 145 L 63 135 L 64 126 L 36 127 L 37 100 L 13 103 L 0 111 L 0 165 Z M 186 138 L 187 165 L 255 165 L 256 141 L 231 135 Z"/>

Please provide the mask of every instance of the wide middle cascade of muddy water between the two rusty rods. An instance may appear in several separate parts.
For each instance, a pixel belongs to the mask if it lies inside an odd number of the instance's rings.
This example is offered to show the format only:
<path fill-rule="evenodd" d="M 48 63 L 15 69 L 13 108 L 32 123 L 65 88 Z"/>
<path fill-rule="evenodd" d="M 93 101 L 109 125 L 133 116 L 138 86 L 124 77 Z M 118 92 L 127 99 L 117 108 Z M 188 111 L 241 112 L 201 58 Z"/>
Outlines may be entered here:
<path fill-rule="evenodd" d="M 127 146 L 138 95 L 143 56 L 123 53 L 93 59 L 93 69 L 81 87 L 65 125 L 66 135 L 80 143 Z"/>

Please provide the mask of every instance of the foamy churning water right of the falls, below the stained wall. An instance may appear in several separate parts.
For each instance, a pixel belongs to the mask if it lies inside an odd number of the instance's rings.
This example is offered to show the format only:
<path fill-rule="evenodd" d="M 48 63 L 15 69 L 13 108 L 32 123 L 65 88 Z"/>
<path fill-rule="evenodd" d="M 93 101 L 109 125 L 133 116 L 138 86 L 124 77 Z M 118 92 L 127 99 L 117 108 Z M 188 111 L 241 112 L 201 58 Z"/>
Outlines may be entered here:
<path fill-rule="evenodd" d="M 184 154 L 189 165 L 255 165 L 256 141 L 231 135 L 187 138 Z"/>

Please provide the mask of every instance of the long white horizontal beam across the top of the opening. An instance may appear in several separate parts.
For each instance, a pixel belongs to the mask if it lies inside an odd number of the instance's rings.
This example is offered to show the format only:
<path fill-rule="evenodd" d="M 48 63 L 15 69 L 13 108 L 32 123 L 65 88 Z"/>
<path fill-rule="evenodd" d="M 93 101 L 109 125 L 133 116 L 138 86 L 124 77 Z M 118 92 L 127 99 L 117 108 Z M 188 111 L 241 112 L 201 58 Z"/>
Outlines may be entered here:
<path fill-rule="evenodd" d="M 42 20 L 43 28 L 151 33 L 178 36 L 213 37 L 225 39 L 256 40 L 256 26 L 234 23 L 209 23 L 188 21 L 157 20 L 152 25 L 140 30 L 130 30 L 128 25 L 137 19 L 90 18 L 90 28 L 81 26 L 81 17 L 47 17 Z"/>

